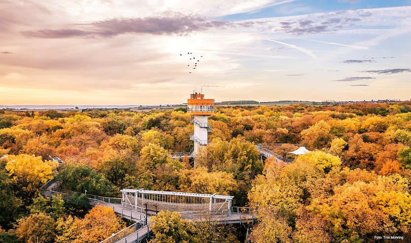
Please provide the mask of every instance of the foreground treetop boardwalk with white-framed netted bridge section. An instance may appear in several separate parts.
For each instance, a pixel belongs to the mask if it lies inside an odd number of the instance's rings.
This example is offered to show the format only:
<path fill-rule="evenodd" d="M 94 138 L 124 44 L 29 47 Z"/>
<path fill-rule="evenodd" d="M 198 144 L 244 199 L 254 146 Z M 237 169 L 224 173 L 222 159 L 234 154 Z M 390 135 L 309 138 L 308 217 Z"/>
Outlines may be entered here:
<path fill-rule="evenodd" d="M 59 189 L 60 182 L 49 180 L 41 187 L 44 197 L 61 195 L 67 199 L 73 194 L 82 194 Z M 123 189 L 122 198 L 86 195 L 90 205 L 110 207 L 122 218 L 133 221 L 129 227 L 113 234 L 101 243 L 140 243 L 150 236 L 149 219 L 161 210 L 176 211 L 181 217 L 193 222 L 209 221 L 214 224 L 255 222 L 256 213 L 247 207 L 233 207 L 232 196 L 169 191 Z"/>

